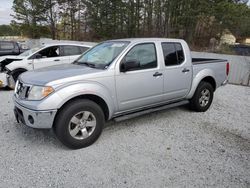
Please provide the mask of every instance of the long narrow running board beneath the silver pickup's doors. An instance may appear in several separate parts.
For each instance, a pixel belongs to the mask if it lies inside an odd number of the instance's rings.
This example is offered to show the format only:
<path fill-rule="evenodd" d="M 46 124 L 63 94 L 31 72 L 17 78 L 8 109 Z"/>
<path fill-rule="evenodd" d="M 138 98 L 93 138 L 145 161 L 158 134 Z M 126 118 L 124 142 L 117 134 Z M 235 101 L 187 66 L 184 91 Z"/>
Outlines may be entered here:
<path fill-rule="evenodd" d="M 114 121 L 120 122 L 120 121 L 124 121 L 124 120 L 127 120 L 127 119 L 142 116 L 142 115 L 145 115 L 145 114 L 149 114 L 149 113 L 152 113 L 152 112 L 157 112 L 157 111 L 166 110 L 166 109 L 177 107 L 177 106 L 182 106 L 182 105 L 185 105 L 185 104 L 188 104 L 188 103 L 189 103 L 188 100 L 184 100 L 184 101 L 167 104 L 167 105 L 160 106 L 160 107 L 155 107 L 155 108 L 150 108 L 150 109 L 139 111 L 139 112 L 130 113 L 130 114 L 127 114 L 127 115 L 121 115 L 121 116 L 115 117 Z"/>

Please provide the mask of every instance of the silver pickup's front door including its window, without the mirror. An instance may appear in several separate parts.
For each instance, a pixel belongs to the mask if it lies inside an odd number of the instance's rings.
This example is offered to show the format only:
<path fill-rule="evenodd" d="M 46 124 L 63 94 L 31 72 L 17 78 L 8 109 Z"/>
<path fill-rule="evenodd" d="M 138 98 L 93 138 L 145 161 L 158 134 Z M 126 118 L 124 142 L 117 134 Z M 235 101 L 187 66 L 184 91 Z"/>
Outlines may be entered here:
<path fill-rule="evenodd" d="M 154 43 L 137 44 L 121 63 L 138 62 L 139 66 L 116 75 L 119 111 L 136 109 L 162 101 L 163 75 L 159 71 Z"/>

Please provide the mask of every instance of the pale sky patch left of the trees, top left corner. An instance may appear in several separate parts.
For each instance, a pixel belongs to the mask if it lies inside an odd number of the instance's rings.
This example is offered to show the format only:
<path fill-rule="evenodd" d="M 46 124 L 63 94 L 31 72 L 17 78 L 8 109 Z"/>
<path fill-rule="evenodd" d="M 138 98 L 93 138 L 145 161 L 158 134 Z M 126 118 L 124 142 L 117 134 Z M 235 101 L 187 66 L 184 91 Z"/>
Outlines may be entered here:
<path fill-rule="evenodd" d="M 0 25 L 10 24 L 13 19 L 10 14 L 13 14 L 11 10 L 13 0 L 0 0 Z"/>

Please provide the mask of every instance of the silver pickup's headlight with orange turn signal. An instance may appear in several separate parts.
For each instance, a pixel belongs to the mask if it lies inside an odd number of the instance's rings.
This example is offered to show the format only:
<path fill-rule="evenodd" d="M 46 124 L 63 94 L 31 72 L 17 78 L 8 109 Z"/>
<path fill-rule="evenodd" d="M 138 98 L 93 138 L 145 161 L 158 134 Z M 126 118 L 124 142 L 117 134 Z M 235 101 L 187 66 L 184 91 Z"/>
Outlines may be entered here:
<path fill-rule="evenodd" d="M 51 93 L 54 92 L 54 89 L 51 86 L 32 86 L 29 94 L 28 100 L 42 100 Z"/>

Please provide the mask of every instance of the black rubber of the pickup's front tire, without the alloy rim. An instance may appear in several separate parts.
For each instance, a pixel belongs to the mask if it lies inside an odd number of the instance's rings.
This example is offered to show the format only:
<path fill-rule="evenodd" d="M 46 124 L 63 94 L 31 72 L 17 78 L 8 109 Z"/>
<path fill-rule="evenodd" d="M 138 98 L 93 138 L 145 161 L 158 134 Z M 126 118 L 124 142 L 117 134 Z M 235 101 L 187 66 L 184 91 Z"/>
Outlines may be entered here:
<path fill-rule="evenodd" d="M 78 140 L 69 133 L 69 122 L 71 118 L 80 111 L 89 111 L 96 118 L 94 132 L 86 139 Z M 63 107 L 56 117 L 54 131 L 57 138 L 67 147 L 79 149 L 93 144 L 101 135 L 105 123 L 104 113 L 99 105 L 88 99 L 75 100 Z"/>

